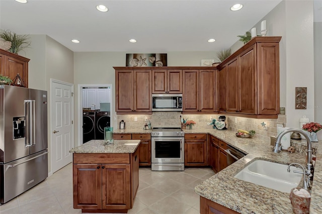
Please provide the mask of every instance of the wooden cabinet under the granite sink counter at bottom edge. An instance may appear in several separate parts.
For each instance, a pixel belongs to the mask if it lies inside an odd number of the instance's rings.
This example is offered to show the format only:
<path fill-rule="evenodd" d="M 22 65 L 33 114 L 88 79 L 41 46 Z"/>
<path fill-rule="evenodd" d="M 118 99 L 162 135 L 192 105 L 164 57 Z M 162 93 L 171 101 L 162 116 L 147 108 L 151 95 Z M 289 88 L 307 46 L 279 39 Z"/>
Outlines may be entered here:
<path fill-rule="evenodd" d="M 223 205 L 200 196 L 200 214 L 235 214 L 239 213 Z"/>

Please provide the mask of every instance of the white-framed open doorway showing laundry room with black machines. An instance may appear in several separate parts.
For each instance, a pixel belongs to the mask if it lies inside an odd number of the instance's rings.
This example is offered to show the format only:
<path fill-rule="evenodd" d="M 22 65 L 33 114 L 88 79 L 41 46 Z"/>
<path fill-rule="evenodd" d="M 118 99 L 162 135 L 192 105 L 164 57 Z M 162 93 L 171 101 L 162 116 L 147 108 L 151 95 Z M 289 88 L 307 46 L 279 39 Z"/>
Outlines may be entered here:
<path fill-rule="evenodd" d="M 102 122 L 113 126 L 112 94 L 112 84 L 78 84 L 78 146 L 101 139 Z"/>

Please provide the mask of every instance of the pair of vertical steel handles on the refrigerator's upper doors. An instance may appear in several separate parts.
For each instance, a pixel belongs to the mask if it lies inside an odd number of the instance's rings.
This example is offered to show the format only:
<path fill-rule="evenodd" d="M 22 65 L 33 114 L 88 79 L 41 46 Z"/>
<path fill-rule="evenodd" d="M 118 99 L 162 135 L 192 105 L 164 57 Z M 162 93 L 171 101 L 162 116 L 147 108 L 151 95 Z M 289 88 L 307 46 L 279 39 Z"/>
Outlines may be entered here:
<path fill-rule="evenodd" d="M 36 144 L 35 100 L 25 100 L 26 147 Z"/>

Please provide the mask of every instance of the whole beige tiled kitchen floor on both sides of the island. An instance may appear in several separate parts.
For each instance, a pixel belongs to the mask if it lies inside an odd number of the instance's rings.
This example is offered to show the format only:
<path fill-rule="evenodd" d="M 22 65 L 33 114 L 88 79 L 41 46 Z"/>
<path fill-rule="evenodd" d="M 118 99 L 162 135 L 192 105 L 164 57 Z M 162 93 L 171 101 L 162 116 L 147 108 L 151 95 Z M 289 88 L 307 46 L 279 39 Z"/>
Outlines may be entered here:
<path fill-rule="evenodd" d="M 139 188 L 128 213 L 199 213 L 194 187 L 213 175 L 210 168 L 187 168 L 184 172 L 140 168 Z M 1 214 L 81 213 L 72 208 L 72 164 L 0 206 Z"/>

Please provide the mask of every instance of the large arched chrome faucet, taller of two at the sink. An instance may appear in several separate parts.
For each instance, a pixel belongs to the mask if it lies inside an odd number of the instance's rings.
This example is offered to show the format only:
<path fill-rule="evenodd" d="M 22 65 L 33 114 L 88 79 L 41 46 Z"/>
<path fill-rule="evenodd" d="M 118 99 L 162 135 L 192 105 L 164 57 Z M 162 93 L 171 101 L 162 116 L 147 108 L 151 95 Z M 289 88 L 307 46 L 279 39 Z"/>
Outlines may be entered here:
<path fill-rule="evenodd" d="M 300 134 L 302 134 L 305 138 L 306 138 L 306 142 L 307 142 L 307 160 L 306 160 L 306 171 L 308 172 L 309 170 L 309 174 L 307 174 L 308 176 L 311 174 L 310 179 L 312 179 L 313 176 L 313 172 L 314 172 L 314 166 L 313 166 L 313 160 L 312 160 L 312 142 L 310 140 L 310 138 L 308 137 L 308 135 L 306 134 L 306 132 L 304 132 L 301 129 L 287 129 L 283 132 L 281 132 L 275 141 L 275 146 L 273 147 L 273 152 L 275 153 L 279 153 L 281 151 L 281 139 L 282 137 L 289 132 L 298 132 Z M 305 171 L 304 171 L 305 173 Z"/>

